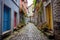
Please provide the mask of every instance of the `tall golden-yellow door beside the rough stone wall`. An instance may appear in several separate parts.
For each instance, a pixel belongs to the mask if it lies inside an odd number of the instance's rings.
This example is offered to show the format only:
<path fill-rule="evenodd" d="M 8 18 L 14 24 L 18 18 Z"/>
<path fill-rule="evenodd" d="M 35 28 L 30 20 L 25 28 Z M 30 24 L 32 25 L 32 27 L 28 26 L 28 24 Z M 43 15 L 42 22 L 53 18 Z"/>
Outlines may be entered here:
<path fill-rule="evenodd" d="M 47 19 L 48 29 L 53 29 L 52 7 L 51 7 L 51 4 L 46 6 L 46 19 Z"/>

